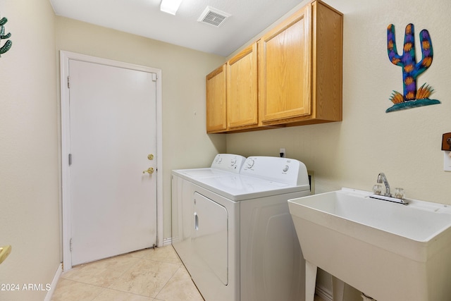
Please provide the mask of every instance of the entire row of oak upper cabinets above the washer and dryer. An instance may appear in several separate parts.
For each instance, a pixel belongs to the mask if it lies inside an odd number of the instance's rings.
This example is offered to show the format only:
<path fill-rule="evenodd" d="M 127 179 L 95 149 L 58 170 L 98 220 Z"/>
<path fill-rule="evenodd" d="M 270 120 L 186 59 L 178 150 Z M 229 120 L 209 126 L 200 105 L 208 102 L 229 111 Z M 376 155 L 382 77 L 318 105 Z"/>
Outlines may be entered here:
<path fill-rule="evenodd" d="M 342 36 L 321 0 L 273 27 L 207 75 L 207 132 L 341 121 Z"/>

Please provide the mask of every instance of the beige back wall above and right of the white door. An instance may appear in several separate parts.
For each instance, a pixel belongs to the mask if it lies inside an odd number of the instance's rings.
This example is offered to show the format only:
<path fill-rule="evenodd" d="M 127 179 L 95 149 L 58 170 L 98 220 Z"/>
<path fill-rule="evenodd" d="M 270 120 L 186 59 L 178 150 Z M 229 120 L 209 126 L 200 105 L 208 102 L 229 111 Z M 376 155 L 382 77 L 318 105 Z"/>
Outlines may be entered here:
<path fill-rule="evenodd" d="M 161 69 L 163 239 L 171 238 L 171 170 L 206 166 L 226 150 L 224 135 L 205 131 L 205 75 L 224 58 L 63 17 L 56 49 Z"/>

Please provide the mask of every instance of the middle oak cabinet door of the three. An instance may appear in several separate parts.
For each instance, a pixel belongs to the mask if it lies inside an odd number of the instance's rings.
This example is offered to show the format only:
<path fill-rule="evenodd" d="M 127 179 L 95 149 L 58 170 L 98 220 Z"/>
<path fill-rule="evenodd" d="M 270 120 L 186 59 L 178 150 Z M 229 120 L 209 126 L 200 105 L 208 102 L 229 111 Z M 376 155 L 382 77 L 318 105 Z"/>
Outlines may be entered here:
<path fill-rule="evenodd" d="M 228 128 L 257 125 L 257 43 L 227 63 Z"/>

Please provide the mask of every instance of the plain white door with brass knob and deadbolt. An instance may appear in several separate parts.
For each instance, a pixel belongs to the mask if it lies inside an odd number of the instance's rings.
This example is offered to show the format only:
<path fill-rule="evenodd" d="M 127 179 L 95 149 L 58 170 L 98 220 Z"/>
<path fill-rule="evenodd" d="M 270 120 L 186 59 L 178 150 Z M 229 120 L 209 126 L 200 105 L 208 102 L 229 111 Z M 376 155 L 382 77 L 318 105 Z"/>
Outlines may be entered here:
<path fill-rule="evenodd" d="M 73 59 L 68 69 L 71 264 L 152 247 L 156 74 Z"/>

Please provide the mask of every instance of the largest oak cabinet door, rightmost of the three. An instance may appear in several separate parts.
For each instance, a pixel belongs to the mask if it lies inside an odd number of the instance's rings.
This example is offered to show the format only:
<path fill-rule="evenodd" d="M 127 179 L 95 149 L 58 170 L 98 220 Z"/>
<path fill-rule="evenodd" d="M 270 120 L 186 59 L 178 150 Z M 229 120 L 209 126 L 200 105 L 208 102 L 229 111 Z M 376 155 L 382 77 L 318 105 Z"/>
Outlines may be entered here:
<path fill-rule="evenodd" d="M 311 114 L 310 6 L 259 41 L 259 89 L 263 123 Z"/>

